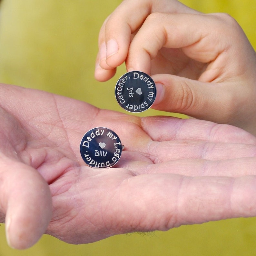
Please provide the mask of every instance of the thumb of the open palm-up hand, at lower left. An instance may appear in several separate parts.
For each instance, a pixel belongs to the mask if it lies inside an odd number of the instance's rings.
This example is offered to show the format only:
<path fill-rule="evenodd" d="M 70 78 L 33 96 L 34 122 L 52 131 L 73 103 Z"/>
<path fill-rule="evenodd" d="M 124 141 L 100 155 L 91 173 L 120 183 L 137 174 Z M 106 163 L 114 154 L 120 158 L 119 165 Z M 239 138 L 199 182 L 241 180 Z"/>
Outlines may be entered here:
<path fill-rule="evenodd" d="M 50 222 L 48 184 L 34 168 L 6 159 L 1 159 L 0 179 L 0 210 L 5 214 L 8 244 L 26 249 L 39 240 Z"/>

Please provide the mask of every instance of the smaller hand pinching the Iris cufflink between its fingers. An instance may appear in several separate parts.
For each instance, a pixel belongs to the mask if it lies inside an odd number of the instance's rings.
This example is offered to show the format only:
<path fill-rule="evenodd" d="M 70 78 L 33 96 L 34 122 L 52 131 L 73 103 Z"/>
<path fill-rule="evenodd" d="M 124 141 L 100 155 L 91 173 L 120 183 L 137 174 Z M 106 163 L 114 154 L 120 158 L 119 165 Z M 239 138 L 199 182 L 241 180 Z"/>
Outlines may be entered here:
<path fill-rule="evenodd" d="M 98 80 L 126 60 L 128 71 L 156 82 L 153 108 L 256 134 L 256 54 L 229 15 L 202 14 L 175 0 L 126 0 L 103 24 L 99 47 Z"/>

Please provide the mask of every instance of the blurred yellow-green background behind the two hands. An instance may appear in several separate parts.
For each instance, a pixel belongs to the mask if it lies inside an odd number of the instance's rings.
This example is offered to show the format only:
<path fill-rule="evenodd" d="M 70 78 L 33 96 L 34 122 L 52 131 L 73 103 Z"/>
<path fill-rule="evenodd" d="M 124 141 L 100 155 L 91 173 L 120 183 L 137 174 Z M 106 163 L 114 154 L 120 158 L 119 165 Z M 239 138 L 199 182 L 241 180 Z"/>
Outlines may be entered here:
<path fill-rule="evenodd" d="M 2 0 L 0 82 L 46 90 L 121 111 L 114 98 L 122 65 L 108 82 L 94 79 L 97 37 L 104 19 L 121 0 Z M 255 0 L 182 0 L 205 13 L 226 12 L 256 46 Z M 167 114 L 149 110 L 144 115 Z M 176 116 L 177 114 L 172 114 Z M 186 225 L 167 232 L 128 234 L 92 244 L 70 245 L 44 235 L 16 251 L 0 225 L 0 256 L 9 255 L 256 255 L 256 218 Z"/>

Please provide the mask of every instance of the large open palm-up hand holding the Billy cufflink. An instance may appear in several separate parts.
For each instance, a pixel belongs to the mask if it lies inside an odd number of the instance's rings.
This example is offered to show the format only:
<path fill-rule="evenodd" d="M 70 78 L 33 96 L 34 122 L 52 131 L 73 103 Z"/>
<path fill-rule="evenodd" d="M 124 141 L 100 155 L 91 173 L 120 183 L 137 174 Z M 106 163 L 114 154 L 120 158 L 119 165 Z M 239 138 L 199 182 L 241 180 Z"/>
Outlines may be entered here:
<path fill-rule="evenodd" d="M 11 85 L 0 90 L 0 216 L 12 247 L 27 248 L 44 232 L 77 244 L 256 215 L 250 133 L 99 110 Z M 81 138 L 97 126 L 125 145 L 113 168 L 92 169 L 81 158 Z"/>

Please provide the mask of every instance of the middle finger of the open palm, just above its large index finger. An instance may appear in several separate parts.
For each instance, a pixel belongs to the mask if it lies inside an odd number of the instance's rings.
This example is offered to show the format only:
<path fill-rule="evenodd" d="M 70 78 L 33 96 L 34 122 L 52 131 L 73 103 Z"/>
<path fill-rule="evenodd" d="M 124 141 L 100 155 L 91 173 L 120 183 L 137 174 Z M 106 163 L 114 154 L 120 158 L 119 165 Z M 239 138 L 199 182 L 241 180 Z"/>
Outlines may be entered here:
<path fill-rule="evenodd" d="M 135 158 L 133 158 L 135 160 Z M 150 173 L 175 173 L 184 176 L 227 176 L 241 177 L 256 175 L 256 157 L 241 157 L 225 160 L 205 159 L 175 159 L 152 164 L 142 162 L 142 159 L 131 161 L 125 155 L 120 161 L 123 168 L 130 170 L 135 175 Z"/>

